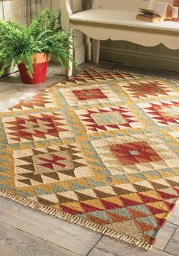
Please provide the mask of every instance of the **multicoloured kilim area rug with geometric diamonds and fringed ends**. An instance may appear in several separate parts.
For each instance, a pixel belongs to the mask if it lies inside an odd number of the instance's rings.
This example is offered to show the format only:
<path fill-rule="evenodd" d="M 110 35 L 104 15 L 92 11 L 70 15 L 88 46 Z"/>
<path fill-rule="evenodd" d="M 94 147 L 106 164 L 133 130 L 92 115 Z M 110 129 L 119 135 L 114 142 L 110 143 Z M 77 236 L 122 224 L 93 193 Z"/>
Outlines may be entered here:
<path fill-rule="evenodd" d="M 179 197 L 177 81 L 89 69 L 0 115 L 1 196 L 152 247 Z"/>

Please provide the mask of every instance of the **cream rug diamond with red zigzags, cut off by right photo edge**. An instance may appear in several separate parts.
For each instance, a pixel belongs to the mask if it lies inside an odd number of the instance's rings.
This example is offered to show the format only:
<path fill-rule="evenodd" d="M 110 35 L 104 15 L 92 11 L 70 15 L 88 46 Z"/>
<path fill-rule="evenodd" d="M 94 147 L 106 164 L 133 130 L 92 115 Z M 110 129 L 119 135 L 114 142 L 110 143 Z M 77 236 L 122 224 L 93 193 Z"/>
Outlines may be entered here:
<path fill-rule="evenodd" d="M 141 103 L 139 107 L 158 126 L 179 124 L 179 101 Z"/>

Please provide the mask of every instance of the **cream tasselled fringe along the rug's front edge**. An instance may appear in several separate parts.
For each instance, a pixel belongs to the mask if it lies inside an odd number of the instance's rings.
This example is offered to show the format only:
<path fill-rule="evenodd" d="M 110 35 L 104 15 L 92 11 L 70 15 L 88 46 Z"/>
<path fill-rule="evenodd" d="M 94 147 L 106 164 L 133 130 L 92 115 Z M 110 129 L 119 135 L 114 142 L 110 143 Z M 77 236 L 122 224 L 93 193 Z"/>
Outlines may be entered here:
<path fill-rule="evenodd" d="M 58 209 L 53 209 L 49 206 L 44 206 L 43 204 L 35 202 L 33 200 L 25 199 L 22 196 L 14 195 L 11 192 L 8 192 L 8 191 L 5 191 L 5 190 L 0 190 L 0 196 L 4 196 L 8 199 L 12 199 L 13 201 L 18 202 L 23 206 L 28 206 L 32 209 L 37 209 L 41 212 L 45 212 L 46 214 L 54 215 L 59 219 L 65 219 L 69 222 L 73 222 L 73 223 L 76 223 L 78 225 L 82 225 L 85 228 L 90 228 L 91 230 L 93 230 L 95 232 L 100 232 L 100 233 L 103 233 L 104 235 L 109 235 L 112 238 L 117 238 L 117 239 L 120 239 L 122 241 L 126 241 L 127 243 L 129 243 L 131 245 L 136 245 L 139 248 L 144 248 L 147 251 L 152 248 L 152 245 L 150 245 L 146 241 L 142 241 L 142 240 L 139 240 L 137 238 L 133 238 L 129 235 L 125 235 L 125 234 L 122 234 L 120 232 L 113 231 L 110 228 L 105 228 L 102 225 L 98 225 L 94 222 L 90 222 L 88 220 L 79 218 L 78 216 L 71 215 L 71 214 L 66 213 L 66 212 L 62 212 Z"/>

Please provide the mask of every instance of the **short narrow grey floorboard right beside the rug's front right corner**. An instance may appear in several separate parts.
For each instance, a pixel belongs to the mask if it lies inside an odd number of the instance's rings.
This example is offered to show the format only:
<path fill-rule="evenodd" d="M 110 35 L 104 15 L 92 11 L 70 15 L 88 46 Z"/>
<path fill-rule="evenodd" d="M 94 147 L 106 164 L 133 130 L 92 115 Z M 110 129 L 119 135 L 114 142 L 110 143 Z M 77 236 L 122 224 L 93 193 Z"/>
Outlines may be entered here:
<path fill-rule="evenodd" d="M 154 245 L 155 248 L 163 251 L 165 246 L 168 244 L 168 241 L 171 239 L 171 236 L 174 234 L 177 229 L 177 225 L 171 223 L 165 223 L 164 228 L 159 233 L 158 239 Z"/>

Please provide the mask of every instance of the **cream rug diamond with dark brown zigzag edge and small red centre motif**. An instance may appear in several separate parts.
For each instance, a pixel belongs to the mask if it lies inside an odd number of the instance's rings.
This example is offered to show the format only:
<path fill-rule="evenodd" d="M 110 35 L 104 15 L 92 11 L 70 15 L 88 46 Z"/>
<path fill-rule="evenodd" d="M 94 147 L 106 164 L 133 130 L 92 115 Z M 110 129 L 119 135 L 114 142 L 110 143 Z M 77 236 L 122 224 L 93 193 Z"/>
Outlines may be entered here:
<path fill-rule="evenodd" d="M 14 151 L 14 173 L 16 186 L 37 186 L 91 176 L 75 144 Z"/>

